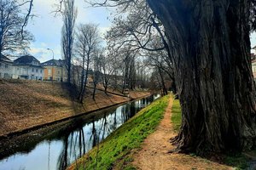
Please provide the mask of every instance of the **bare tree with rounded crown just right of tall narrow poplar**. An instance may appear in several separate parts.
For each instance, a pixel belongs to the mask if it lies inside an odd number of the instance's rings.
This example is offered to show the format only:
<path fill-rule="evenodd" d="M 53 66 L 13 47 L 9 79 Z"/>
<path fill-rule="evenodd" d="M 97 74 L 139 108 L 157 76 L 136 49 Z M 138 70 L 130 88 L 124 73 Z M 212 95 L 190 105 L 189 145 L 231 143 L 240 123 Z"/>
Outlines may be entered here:
<path fill-rule="evenodd" d="M 96 48 L 100 43 L 100 37 L 95 24 L 80 25 L 77 32 L 76 52 L 82 60 L 81 86 L 79 90 L 79 101 L 83 103 L 86 93 L 86 84 L 91 59 L 93 59 Z"/>

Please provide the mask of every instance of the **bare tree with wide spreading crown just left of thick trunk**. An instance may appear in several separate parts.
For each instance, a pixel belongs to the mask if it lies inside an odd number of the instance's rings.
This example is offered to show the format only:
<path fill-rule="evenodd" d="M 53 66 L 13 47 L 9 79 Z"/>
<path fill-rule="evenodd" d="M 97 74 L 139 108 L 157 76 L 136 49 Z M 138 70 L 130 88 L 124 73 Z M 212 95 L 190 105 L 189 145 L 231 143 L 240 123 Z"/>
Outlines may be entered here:
<path fill-rule="evenodd" d="M 117 17 L 113 20 L 113 26 L 107 34 L 108 46 L 117 49 L 130 46 L 129 50 L 131 50 L 131 53 L 137 54 L 138 58 L 140 56 L 151 56 L 150 54 L 145 55 L 148 53 L 157 54 L 158 56 L 160 56 L 158 53 L 166 54 L 165 59 L 168 60 L 170 66 L 168 70 L 171 70 L 172 54 L 166 43 L 165 31 L 160 21 L 148 7 L 148 4 L 143 1 L 137 1 L 137 4 L 129 8 L 129 11 L 126 11 L 125 14 L 126 17 Z M 137 72 L 134 71 L 137 70 L 134 66 L 135 59 L 126 58 L 125 61 L 128 62 L 126 65 L 131 64 L 129 69 L 131 72 L 129 74 L 126 73 L 127 78 L 125 81 L 127 82 L 126 84 L 129 84 L 129 88 L 132 89 L 137 85 L 137 82 L 142 82 L 142 80 L 134 78 L 136 75 L 133 72 Z M 126 71 L 128 71 L 127 68 Z M 159 71 L 160 75 L 162 75 L 162 69 Z M 171 75 L 171 72 L 169 75 Z M 174 80 L 174 78 L 172 79 Z M 164 85 L 163 87 L 165 88 Z M 164 92 L 167 94 L 166 89 Z"/>

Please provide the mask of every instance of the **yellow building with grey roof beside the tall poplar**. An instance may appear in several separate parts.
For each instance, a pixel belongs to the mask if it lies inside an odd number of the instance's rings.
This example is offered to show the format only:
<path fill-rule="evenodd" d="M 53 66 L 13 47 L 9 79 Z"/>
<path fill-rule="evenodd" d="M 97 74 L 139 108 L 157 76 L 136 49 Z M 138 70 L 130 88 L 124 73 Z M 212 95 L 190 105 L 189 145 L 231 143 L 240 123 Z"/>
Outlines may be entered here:
<path fill-rule="evenodd" d="M 67 82 L 67 70 L 64 60 L 50 59 L 42 64 L 44 66 L 44 80 Z"/>

